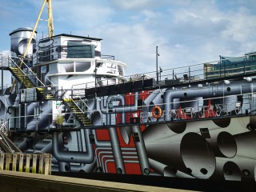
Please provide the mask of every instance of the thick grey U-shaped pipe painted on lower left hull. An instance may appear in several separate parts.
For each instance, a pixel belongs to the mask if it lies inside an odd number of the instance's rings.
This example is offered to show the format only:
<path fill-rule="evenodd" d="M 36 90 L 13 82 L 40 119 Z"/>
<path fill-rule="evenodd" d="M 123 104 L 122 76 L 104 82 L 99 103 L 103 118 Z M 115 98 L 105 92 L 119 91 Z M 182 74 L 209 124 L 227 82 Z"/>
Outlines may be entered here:
<path fill-rule="evenodd" d="M 58 132 L 54 132 L 53 135 L 53 155 L 60 162 L 78 162 L 78 163 L 91 163 L 94 161 L 94 150 L 90 144 L 89 135 L 91 130 L 86 129 L 84 131 L 84 137 L 86 142 L 86 152 L 78 151 L 64 151 L 61 150 L 63 147 L 62 139 Z"/>

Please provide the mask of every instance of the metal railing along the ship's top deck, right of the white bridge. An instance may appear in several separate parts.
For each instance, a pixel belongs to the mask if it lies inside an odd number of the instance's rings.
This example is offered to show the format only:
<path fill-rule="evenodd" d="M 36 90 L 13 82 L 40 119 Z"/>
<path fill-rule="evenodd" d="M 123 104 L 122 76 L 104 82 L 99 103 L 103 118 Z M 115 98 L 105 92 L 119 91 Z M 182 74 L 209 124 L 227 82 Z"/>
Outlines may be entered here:
<path fill-rule="evenodd" d="M 233 60 L 232 60 L 233 59 Z M 234 60 L 236 59 L 236 60 Z M 112 79 L 101 79 L 104 86 L 118 85 L 122 82 L 137 82 L 147 79 L 156 79 L 158 74 L 159 85 L 156 86 L 175 86 L 182 83 L 214 81 L 218 78 L 234 78 L 235 76 L 250 76 L 256 74 L 256 54 L 247 54 L 237 58 L 226 58 L 221 61 L 199 63 L 190 66 L 180 66 L 156 71 L 132 74 Z M 96 82 L 86 82 L 74 85 L 72 89 L 90 89 L 98 86 Z"/>

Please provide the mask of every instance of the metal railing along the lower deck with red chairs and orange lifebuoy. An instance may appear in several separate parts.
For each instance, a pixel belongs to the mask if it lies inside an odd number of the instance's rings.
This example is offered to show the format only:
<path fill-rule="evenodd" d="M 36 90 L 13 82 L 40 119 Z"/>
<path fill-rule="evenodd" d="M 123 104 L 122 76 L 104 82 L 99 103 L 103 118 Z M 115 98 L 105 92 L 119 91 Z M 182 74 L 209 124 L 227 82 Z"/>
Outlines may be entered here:
<path fill-rule="evenodd" d="M 97 126 L 118 126 L 121 123 L 125 123 L 127 125 L 134 124 L 134 121 L 131 121 L 134 118 L 138 119 L 138 121 L 136 120 L 137 122 L 135 123 L 148 124 L 151 122 L 190 121 L 202 120 L 206 118 L 239 117 L 243 115 L 256 114 L 256 93 L 238 94 L 235 96 L 235 98 L 234 95 L 229 95 L 224 97 L 200 98 L 183 102 L 157 104 L 157 106 L 162 109 L 162 115 L 160 115 L 159 118 L 154 118 L 153 116 L 153 109 L 156 105 L 143 104 L 142 106 L 138 106 L 138 109 L 134 111 L 134 106 L 125 105 L 115 106 L 118 108 L 110 108 L 110 106 L 106 104 L 106 109 L 102 111 L 102 114 L 99 115 L 98 118 L 95 118 L 97 121 L 92 122 L 94 123 L 95 128 Z M 126 97 L 134 97 L 134 95 L 129 94 L 126 95 Z M 242 97 L 242 101 L 239 101 L 237 97 Z M 225 102 L 226 100 L 229 102 Z M 102 102 L 102 98 L 93 98 L 88 100 L 88 102 Z M 174 107 L 168 111 L 165 111 L 163 107 L 165 105 Z M 101 110 L 98 109 L 98 112 L 101 113 Z M 87 115 L 82 109 L 76 113 Z M 47 121 L 48 119 L 49 124 L 46 129 L 50 130 L 57 127 L 55 124 L 58 121 L 58 117 L 62 116 L 64 118 L 64 116 L 67 114 L 72 113 L 58 112 L 58 114 L 39 114 L 37 118 L 35 118 L 34 115 L 11 117 L 9 119 L 9 127 L 10 129 L 15 129 L 14 127 L 21 127 L 16 128 L 14 131 L 26 130 L 28 119 L 34 118 L 33 122 L 30 122 L 31 130 L 37 127 L 40 119 L 43 119 L 44 121 Z M 122 114 L 125 115 L 125 122 L 121 121 Z M 62 127 L 75 128 L 79 126 L 78 121 L 75 119 L 73 119 L 73 122 L 65 122 L 65 119 L 63 120 L 64 122 L 62 123 Z"/>

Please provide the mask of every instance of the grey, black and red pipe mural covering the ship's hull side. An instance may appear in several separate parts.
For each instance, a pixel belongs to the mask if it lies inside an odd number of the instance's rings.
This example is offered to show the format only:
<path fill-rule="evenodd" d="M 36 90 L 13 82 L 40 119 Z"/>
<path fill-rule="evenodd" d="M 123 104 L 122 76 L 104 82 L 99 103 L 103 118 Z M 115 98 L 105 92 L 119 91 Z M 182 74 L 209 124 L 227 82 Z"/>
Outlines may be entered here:
<path fill-rule="evenodd" d="M 1 97 L 1 114 L 4 119 L 4 111 L 20 111 L 21 118 L 7 117 L 10 129 L 26 133 L 15 144 L 24 152 L 53 154 L 53 171 L 255 182 L 256 117 L 246 115 L 256 107 L 255 85 L 177 86 L 92 98 L 85 102 L 94 111 L 86 114 L 93 126 L 75 130 L 66 129 L 79 122 L 61 101 L 16 106 L 10 94 Z M 228 108 L 218 111 L 225 103 Z"/>

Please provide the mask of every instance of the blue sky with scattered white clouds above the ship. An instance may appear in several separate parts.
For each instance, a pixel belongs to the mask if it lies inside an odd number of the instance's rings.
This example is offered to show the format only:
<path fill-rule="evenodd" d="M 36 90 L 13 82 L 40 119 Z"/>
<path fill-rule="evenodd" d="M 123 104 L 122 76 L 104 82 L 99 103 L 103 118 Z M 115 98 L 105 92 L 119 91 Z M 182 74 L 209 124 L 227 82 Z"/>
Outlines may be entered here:
<path fill-rule="evenodd" d="M 0 0 L 0 51 L 9 34 L 33 27 L 42 0 Z M 55 34 L 103 38 L 102 54 L 126 62 L 126 74 L 210 62 L 256 51 L 254 0 L 52 0 Z M 46 9 L 42 18 L 46 18 Z M 46 22 L 38 38 L 47 34 Z"/>

